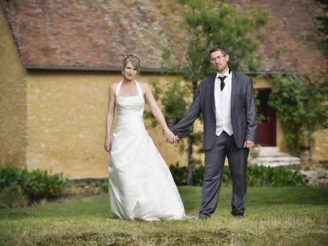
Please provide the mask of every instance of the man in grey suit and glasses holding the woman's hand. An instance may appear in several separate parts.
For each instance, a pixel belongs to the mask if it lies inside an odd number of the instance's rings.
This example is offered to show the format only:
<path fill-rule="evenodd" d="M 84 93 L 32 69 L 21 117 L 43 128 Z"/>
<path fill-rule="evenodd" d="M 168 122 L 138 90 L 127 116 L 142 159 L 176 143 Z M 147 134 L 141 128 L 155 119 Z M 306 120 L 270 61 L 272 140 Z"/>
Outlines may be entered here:
<path fill-rule="evenodd" d="M 231 213 L 242 217 L 247 193 L 247 158 L 256 142 L 252 79 L 229 69 L 229 54 L 222 46 L 213 47 L 209 55 L 216 73 L 201 81 L 195 100 L 172 128 L 176 138 L 167 142 L 173 144 L 181 138 L 202 113 L 205 172 L 199 218 L 210 218 L 216 209 L 226 156 L 233 182 Z"/>

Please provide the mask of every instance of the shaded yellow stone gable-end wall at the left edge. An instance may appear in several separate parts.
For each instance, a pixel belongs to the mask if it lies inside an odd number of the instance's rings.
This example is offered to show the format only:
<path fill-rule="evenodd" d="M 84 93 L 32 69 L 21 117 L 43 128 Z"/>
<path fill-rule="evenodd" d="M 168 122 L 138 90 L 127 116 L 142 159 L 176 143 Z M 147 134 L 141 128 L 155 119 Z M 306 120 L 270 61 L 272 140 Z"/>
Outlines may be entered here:
<path fill-rule="evenodd" d="M 26 71 L 0 7 L 0 165 L 25 165 Z"/>

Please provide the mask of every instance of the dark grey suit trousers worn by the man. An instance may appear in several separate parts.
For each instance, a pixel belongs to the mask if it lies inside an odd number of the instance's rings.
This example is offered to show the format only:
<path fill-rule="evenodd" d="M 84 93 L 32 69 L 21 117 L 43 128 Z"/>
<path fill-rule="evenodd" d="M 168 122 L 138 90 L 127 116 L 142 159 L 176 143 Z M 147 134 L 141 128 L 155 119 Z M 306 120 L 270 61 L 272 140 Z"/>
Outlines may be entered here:
<path fill-rule="evenodd" d="M 216 136 L 212 149 L 205 151 L 205 172 L 201 192 L 200 218 L 210 217 L 217 206 L 224 160 L 228 157 L 232 177 L 232 214 L 243 215 L 247 194 L 246 170 L 249 149 L 239 149 L 234 136 L 222 132 Z"/>

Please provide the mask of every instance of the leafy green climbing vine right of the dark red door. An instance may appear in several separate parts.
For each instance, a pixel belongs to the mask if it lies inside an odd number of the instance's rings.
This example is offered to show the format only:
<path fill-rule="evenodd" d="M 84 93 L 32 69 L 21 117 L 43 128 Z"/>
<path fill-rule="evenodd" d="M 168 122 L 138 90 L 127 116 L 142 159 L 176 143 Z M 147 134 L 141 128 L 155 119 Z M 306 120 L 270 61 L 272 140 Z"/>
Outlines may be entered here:
<path fill-rule="evenodd" d="M 269 97 L 280 118 L 284 144 L 294 155 L 299 155 L 310 125 L 317 130 L 328 121 L 327 85 L 305 80 L 302 84 L 295 75 L 275 75 Z"/>

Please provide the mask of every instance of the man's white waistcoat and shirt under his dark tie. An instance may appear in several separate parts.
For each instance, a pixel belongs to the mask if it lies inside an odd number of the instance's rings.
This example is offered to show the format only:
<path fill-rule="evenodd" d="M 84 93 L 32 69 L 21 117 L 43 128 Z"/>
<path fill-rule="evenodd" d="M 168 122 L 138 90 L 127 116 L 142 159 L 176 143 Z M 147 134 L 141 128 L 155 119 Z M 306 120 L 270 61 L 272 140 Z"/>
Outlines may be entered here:
<path fill-rule="evenodd" d="M 215 98 L 215 119 L 216 119 L 216 135 L 219 136 L 223 131 L 226 131 L 229 136 L 233 135 L 231 125 L 231 78 L 232 73 L 229 74 L 229 70 L 224 73 L 216 73 L 214 85 L 214 98 Z M 224 79 L 224 88 L 221 91 L 220 76 L 227 76 Z"/>

